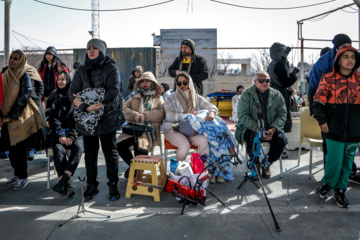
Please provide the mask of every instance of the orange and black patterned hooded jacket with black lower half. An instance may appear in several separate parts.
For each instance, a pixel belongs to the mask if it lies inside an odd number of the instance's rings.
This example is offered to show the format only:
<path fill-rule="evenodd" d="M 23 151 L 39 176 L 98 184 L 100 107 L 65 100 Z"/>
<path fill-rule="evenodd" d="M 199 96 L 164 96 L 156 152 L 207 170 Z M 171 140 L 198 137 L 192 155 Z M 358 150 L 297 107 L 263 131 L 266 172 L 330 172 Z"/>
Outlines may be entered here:
<path fill-rule="evenodd" d="M 349 76 L 340 73 L 339 59 L 346 51 L 355 53 L 355 66 Z M 325 138 L 339 142 L 360 141 L 360 53 L 351 46 L 340 47 L 333 70 L 324 75 L 314 95 L 314 118 L 328 124 Z"/>

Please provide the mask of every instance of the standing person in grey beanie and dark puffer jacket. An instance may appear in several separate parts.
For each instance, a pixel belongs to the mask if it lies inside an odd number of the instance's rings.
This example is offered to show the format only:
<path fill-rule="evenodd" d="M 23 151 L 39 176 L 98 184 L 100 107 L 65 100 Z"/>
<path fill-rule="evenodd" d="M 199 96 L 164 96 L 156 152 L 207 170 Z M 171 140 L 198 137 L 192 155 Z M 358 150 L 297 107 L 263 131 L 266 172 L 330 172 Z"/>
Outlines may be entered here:
<path fill-rule="evenodd" d="M 104 115 L 111 110 L 119 109 L 120 73 L 116 61 L 106 53 L 106 43 L 97 38 L 87 43 L 85 63 L 78 67 L 69 88 L 69 98 L 82 112 L 94 112 L 103 108 Z M 103 89 L 104 99 L 100 103 L 87 105 L 78 98 L 77 94 L 85 89 Z M 78 130 L 78 129 L 77 129 Z M 85 150 L 85 167 L 87 187 L 84 198 L 89 201 L 99 193 L 97 178 L 97 158 L 99 153 L 99 138 L 105 156 L 106 171 L 109 186 L 109 200 L 120 199 L 117 189 L 118 155 L 116 152 L 116 129 L 106 134 L 83 135 Z"/>

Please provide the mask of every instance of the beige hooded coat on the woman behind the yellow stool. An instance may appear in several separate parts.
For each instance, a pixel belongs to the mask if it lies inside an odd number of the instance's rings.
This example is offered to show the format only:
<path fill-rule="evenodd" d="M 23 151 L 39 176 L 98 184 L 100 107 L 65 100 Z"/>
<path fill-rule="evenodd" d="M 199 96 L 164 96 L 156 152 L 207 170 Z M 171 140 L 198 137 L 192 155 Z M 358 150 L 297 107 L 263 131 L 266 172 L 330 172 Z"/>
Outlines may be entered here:
<path fill-rule="evenodd" d="M 155 127 L 157 131 L 157 143 L 154 143 L 152 136 L 147 135 L 146 133 L 143 133 L 140 137 L 138 137 L 138 145 L 139 148 L 144 149 L 148 152 L 152 151 L 156 145 L 161 145 L 161 133 L 160 133 L 160 125 L 162 120 L 165 118 L 165 112 L 164 112 L 164 100 L 161 97 L 161 88 L 159 83 L 156 81 L 154 75 L 151 72 L 145 72 L 141 75 L 138 81 L 136 81 L 134 85 L 134 89 L 137 89 L 139 87 L 139 82 L 141 82 L 142 79 L 149 79 L 155 84 L 155 92 L 156 94 L 152 98 L 152 110 L 145 111 L 143 113 L 144 121 L 149 121 L 152 123 L 152 125 Z M 139 107 L 140 107 L 140 101 L 141 101 L 141 94 L 135 94 L 130 97 L 129 100 L 127 100 L 124 104 L 124 115 L 126 120 L 129 123 L 137 124 L 136 120 L 139 116 Z M 128 139 L 130 137 L 134 137 L 132 135 L 124 134 L 122 133 L 118 139 L 117 143 Z"/>

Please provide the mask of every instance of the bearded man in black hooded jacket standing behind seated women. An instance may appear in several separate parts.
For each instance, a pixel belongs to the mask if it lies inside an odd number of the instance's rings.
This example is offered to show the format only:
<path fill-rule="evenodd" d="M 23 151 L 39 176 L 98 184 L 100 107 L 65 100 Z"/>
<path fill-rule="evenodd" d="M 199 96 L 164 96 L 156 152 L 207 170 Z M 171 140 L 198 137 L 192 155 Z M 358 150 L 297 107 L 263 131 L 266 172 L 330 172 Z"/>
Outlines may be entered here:
<path fill-rule="evenodd" d="M 186 72 L 191 76 L 196 93 L 202 95 L 204 92 L 202 81 L 209 76 L 208 66 L 205 58 L 195 53 L 195 42 L 191 39 L 181 42 L 180 55 L 169 67 L 169 75 L 173 78 L 181 72 Z M 176 91 L 175 83 L 174 91 Z"/>

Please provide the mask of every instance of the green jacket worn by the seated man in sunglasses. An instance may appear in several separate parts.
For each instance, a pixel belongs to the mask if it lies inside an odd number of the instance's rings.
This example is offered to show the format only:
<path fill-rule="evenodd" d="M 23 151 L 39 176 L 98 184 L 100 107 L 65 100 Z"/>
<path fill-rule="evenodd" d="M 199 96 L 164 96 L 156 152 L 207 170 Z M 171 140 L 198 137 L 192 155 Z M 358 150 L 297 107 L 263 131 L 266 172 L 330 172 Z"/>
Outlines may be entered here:
<path fill-rule="evenodd" d="M 270 127 L 275 127 L 277 131 L 284 133 L 287 113 L 284 98 L 278 90 L 271 87 L 269 89 L 267 121 Z M 239 122 L 236 125 L 235 138 L 240 144 L 244 142 L 246 129 L 256 131 L 258 128 L 255 103 L 259 103 L 259 98 L 256 93 L 256 86 L 253 85 L 241 94 L 237 105 Z"/>

